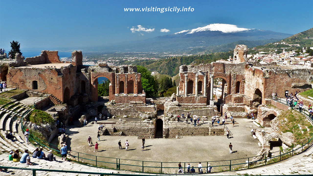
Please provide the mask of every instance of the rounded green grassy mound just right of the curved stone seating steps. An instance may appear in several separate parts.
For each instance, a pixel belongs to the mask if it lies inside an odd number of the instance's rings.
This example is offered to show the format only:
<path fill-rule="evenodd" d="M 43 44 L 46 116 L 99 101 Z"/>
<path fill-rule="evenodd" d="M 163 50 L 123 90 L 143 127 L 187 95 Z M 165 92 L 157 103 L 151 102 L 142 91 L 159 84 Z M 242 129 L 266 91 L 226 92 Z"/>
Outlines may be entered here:
<path fill-rule="evenodd" d="M 41 125 L 42 123 L 44 124 L 54 123 L 54 120 L 50 114 L 48 114 L 45 111 L 41 111 L 37 109 L 33 110 L 30 116 L 28 116 L 26 120 L 32 123 L 35 123 L 36 125 Z"/>

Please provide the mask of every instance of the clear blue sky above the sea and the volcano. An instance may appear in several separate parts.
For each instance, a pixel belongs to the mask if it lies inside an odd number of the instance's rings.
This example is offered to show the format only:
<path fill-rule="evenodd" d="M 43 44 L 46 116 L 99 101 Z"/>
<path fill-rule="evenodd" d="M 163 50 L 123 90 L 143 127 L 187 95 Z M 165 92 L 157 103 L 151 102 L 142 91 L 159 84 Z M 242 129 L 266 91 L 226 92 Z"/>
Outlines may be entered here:
<path fill-rule="evenodd" d="M 194 11 L 124 11 L 146 7 L 191 7 Z M 9 50 L 10 41 L 17 40 L 24 50 L 80 49 L 148 39 L 211 23 L 296 34 L 313 27 L 313 1 L 0 0 L 0 48 Z M 138 30 L 138 25 L 147 32 L 132 32 L 131 28 Z"/>

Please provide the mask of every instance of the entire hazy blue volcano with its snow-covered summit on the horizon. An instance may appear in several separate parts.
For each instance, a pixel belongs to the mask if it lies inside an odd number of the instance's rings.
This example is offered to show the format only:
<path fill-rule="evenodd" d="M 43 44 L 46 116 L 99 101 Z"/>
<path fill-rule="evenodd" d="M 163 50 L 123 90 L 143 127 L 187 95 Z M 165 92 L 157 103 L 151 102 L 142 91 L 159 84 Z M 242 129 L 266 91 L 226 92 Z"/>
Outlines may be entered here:
<path fill-rule="evenodd" d="M 126 42 L 116 47 L 111 47 L 110 50 L 177 53 L 198 53 L 210 50 L 219 52 L 234 49 L 236 44 L 246 44 L 248 47 L 255 47 L 276 42 L 291 35 L 268 30 L 238 28 L 233 24 L 217 23 L 150 39 Z"/>

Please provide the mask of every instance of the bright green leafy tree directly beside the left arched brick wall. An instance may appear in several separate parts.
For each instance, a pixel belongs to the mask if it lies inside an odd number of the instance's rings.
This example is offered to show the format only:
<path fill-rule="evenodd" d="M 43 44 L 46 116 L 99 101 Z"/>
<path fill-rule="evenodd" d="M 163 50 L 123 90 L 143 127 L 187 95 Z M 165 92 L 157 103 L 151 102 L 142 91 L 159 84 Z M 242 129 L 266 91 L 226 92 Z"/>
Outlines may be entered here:
<path fill-rule="evenodd" d="M 151 75 L 151 72 L 145 67 L 137 65 L 137 72 L 141 74 L 141 85 L 146 92 L 146 96 L 157 95 L 156 78 Z"/>

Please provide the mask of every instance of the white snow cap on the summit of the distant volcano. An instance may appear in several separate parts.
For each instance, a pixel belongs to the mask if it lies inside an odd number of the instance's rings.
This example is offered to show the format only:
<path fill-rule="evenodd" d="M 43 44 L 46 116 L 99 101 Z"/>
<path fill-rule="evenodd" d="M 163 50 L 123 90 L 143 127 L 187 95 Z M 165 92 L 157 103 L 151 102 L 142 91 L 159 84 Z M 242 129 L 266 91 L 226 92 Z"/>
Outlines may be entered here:
<path fill-rule="evenodd" d="M 183 30 L 174 34 L 192 34 L 196 32 L 202 32 L 202 31 L 221 31 L 223 33 L 234 33 L 234 32 L 240 32 L 240 31 L 248 31 L 251 29 L 247 28 L 238 28 L 236 25 L 233 24 L 209 24 L 204 27 L 199 27 L 195 29 L 190 29 L 190 30 Z"/>

